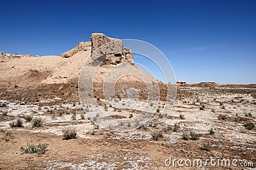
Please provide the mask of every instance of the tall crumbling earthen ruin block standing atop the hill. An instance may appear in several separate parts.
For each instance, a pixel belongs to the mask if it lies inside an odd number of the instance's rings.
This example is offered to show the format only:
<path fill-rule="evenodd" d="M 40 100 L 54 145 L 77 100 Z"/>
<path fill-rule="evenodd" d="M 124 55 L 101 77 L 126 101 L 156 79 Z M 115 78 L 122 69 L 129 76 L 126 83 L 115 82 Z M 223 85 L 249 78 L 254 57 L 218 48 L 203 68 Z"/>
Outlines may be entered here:
<path fill-rule="evenodd" d="M 92 41 L 92 53 L 96 55 L 102 55 L 101 53 L 108 53 L 108 55 L 111 55 L 111 57 L 108 57 L 108 59 L 105 60 L 104 64 L 119 64 L 124 62 L 129 62 L 131 64 L 134 64 L 132 51 L 130 48 L 124 48 L 123 42 L 120 39 L 117 38 L 109 38 L 108 36 L 102 34 L 102 33 L 93 33 L 91 35 L 91 41 Z M 112 41 L 115 41 L 115 48 L 104 49 L 100 50 L 101 52 L 98 54 L 97 51 L 95 51 L 100 46 L 104 46 L 106 44 L 111 43 Z"/>

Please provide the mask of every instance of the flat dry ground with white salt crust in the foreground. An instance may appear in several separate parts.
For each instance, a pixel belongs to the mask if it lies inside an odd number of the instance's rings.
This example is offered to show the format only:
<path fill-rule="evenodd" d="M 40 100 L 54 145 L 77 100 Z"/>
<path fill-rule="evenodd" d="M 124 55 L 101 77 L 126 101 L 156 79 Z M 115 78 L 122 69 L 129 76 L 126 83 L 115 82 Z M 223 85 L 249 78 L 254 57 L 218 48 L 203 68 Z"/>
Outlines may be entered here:
<path fill-rule="evenodd" d="M 159 113 L 139 129 L 109 132 L 84 117 L 82 104 L 50 94 L 35 101 L 10 99 L 15 90 L 1 89 L 0 169 L 250 169 L 256 165 L 256 99 L 253 88 L 178 87 L 172 113 L 163 120 Z M 179 95 L 179 94 L 178 94 Z M 36 94 L 35 94 L 36 96 Z M 100 99 L 103 101 L 103 99 Z M 24 102 L 25 101 L 25 102 Z M 90 107 L 90 106 L 88 106 Z M 109 107 L 109 111 L 113 108 Z M 131 115 L 125 111 L 117 114 Z M 42 127 L 32 127 L 24 116 L 43 120 Z M 24 127 L 10 127 L 21 118 Z M 83 118 L 84 117 L 84 118 Z M 64 140 L 61 129 L 76 127 L 77 138 Z M 209 134 L 212 128 L 214 134 Z M 163 138 L 152 139 L 152 132 Z M 199 139 L 183 139 L 195 132 Z M 22 153 L 26 143 L 48 143 L 44 154 Z M 207 151 L 206 151 L 207 150 Z M 237 166 L 165 166 L 166 159 L 210 159 L 217 152 L 222 158 L 252 162 L 252 167 Z M 249 164 L 248 164 L 249 165 Z M 250 164 L 252 165 L 252 164 Z"/>

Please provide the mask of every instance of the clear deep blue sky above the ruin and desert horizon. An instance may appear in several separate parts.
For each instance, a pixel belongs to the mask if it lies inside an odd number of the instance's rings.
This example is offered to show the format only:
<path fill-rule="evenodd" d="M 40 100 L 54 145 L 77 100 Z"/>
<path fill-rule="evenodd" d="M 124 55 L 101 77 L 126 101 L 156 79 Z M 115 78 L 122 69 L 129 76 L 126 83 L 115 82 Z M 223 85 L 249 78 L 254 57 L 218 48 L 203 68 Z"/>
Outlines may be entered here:
<path fill-rule="evenodd" d="M 256 83 L 256 1 L 1 1 L 0 51 L 60 55 L 92 32 L 147 41 L 178 81 Z"/>

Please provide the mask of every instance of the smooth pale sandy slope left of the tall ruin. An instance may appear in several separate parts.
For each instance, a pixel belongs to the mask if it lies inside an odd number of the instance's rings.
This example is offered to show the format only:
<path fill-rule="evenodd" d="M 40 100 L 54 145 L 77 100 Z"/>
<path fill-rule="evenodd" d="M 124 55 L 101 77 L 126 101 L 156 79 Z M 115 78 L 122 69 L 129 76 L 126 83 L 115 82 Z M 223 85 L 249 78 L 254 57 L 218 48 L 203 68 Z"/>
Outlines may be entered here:
<path fill-rule="evenodd" d="M 79 52 L 69 58 L 60 56 L 21 57 L 2 59 L 1 87 L 29 87 L 44 83 L 66 83 L 77 78 L 90 51 Z"/>

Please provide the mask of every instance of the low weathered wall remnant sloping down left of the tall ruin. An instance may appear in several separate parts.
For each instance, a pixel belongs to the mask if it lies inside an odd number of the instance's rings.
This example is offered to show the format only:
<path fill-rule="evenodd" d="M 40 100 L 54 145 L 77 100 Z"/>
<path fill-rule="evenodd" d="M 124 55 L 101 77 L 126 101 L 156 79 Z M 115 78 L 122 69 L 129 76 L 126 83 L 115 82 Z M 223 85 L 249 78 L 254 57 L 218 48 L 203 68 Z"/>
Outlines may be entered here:
<path fill-rule="evenodd" d="M 71 50 L 68 50 L 65 53 L 62 53 L 60 56 L 63 58 L 68 58 L 72 57 L 75 55 L 77 52 L 82 52 L 82 51 L 88 51 L 91 50 L 91 42 L 80 42 L 76 45 L 75 48 L 72 48 Z"/>

